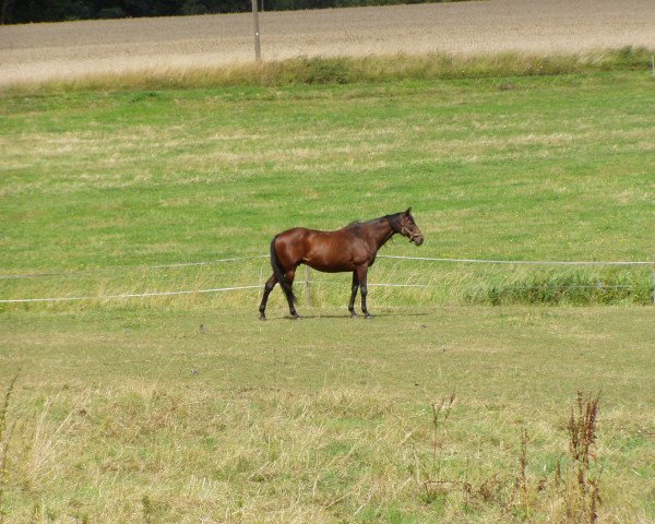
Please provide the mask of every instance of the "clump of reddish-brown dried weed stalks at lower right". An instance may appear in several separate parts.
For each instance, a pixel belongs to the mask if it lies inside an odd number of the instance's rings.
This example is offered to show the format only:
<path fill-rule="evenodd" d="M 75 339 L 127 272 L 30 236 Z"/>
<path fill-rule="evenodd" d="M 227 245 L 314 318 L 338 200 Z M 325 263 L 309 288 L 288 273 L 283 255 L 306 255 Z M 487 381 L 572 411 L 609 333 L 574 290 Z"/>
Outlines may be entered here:
<path fill-rule="evenodd" d="M 561 453 L 555 471 L 535 475 L 532 471 L 545 472 L 546 467 L 534 468 L 528 448 L 527 431 L 521 430 L 517 471 L 507 476 L 493 472 L 487 478 L 471 480 L 445 478 L 445 469 L 439 457 L 440 437 L 446 434 L 443 425 L 448 421 L 455 394 L 432 404 L 433 456 L 431 467 L 424 464 L 420 485 L 425 490 L 425 502 L 443 501 L 460 492 L 464 507 L 471 512 L 483 505 L 496 505 L 503 519 L 520 522 L 540 522 L 548 509 L 548 516 L 557 522 L 594 524 L 598 520 L 600 499 L 596 454 L 598 396 L 585 398 L 577 393 L 576 409 L 571 409 L 567 425 L 569 453 Z"/>

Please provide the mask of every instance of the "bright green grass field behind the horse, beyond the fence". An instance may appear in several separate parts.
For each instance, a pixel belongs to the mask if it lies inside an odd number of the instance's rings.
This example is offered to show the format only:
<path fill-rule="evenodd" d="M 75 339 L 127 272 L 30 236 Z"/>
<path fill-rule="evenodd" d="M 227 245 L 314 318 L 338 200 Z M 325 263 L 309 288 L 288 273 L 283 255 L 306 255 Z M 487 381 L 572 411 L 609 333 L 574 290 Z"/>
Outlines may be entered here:
<path fill-rule="evenodd" d="M 132 266 L 265 254 L 287 227 L 337 228 L 408 205 L 427 241 L 398 240 L 386 254 L 653 260 L 652 86 L 645 73 L 615 72 L 4 95 L 1 271 L 110 271 L 0 289 L 32 298 L 259 284 L 265 262 Z M 371 279 L 432 284 L 427 299 L 453 303 L 564 275 L 564 285 L 628 288 L 582 301 L 651 301 L 648 267 L 550 270 L 386 262 Z"/>

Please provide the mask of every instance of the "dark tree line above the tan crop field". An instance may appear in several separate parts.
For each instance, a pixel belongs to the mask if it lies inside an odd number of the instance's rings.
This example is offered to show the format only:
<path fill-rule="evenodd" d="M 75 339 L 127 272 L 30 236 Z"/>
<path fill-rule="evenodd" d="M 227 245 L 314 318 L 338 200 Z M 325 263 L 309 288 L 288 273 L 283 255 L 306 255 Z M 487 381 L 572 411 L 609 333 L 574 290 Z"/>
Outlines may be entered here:
<path fill-rule="evenodd" d="M 421 3 L 422 1 L 425 0 L 259 0 L 260 7 L 266 11 Z M 0 24 L 238 13 L 251 9 L 250 0 L 0 0 L 0 3 L 2 7 Z"/>

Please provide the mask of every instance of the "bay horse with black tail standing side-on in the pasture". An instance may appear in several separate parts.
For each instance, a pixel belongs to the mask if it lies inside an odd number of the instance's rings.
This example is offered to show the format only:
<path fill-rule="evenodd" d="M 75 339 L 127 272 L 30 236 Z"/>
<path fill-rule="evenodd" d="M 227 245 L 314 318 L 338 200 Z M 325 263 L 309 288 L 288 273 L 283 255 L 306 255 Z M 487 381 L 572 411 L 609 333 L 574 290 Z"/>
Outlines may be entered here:
<path fill-rule="evenodd" d="M 357 289 L 361 294 L 361 312 L 368 319 L 371 314 L 366 307 L 368 289 L 366 275 L 376 262 L 378 250 L 395 234 L 409 239 L 416 246 L 424 242 L 424 237 L 412 216 L 412 207 L 393 215 L 381 216 L 368 222 L 355 222 L 336 231 L 320 231 L 305 227 L 294 227 L 278 235 L 271 241 L 271 265 L 273 275 L 266 281 L 264 296 L 260 303 L 260 319 L 266 320 L 266 302 L 269 295 L 279 283 L 294 319 L 300 315 L 296 311 L 294 295 L 294 277 L 296 267 L 307 264 L 325 273 L 353 272 L 353 289 L 348 311 L 355 312 Z"/>

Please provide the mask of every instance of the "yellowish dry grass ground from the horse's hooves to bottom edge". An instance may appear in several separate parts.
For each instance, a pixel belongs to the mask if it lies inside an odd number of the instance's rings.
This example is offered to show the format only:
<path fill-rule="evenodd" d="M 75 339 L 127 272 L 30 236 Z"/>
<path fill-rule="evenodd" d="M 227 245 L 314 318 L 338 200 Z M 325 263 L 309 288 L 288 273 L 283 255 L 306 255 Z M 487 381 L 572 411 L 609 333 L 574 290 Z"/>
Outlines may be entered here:
<path fill-rule="evenodd" d="M 648 522 L 648 314 L 572 312 L 11 313 L 2 369 L 23 371 L 1 390 L 2 509 L 9 522 L 588 523 L 596 500 L 598 522 Z M 575 391 L 599 382 L 594 426 L 595 397 Z"/>

